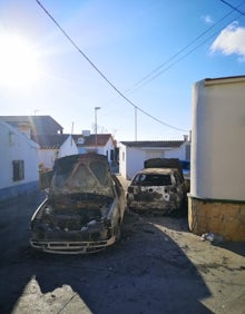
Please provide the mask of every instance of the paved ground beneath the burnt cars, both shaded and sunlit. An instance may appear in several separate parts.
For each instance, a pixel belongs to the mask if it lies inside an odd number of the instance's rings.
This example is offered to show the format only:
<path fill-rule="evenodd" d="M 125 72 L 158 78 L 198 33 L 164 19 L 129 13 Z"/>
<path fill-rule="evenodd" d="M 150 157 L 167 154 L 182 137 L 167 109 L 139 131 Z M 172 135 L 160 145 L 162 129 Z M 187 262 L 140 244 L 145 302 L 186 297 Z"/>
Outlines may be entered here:
<path fill-rule="evenodd" d="M 126 213 L 98 254 L 33 254 L 41 196 L 0 206 L 0 313 L 245 313 L 244 243 L 202 242 L 187 217 Z"/>

